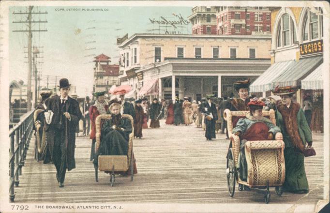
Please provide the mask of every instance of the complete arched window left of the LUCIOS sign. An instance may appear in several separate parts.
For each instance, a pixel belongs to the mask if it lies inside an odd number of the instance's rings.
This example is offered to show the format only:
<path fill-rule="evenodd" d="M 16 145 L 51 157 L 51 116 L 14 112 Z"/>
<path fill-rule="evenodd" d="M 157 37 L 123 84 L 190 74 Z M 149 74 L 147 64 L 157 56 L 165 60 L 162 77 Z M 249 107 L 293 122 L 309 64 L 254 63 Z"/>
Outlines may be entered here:
<path fill-rule="evenodd" d="M 277 47 L 290 46 L 297 42 L 297 30 L 290 15 L 282 15 L 277 29 Z"/>

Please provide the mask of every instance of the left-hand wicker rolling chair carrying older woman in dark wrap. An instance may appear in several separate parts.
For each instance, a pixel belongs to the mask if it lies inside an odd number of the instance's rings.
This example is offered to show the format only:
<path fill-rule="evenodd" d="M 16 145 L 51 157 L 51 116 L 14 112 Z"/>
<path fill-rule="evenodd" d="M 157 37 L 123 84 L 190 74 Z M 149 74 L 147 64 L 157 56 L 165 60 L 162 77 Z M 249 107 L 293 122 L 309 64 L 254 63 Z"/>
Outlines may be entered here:
<path fill-rule="evenodd" d="M 131 169 L 131 181 L 133 181 L 134 173 L 134 159 L 133 159 L 133 138 L 134 138 L 134 125 L 133 117 L 131 115 L 123 114 L 122 118 L 127 118 L 131 120 L 132 124 L 132 133 L 129 135 L 128 141 L 128 152 L 127 155 L 99 155 L 98 158 L 98 170 L 100 171 L 109 171 L 112 172 L 110 183 L 113 185 L 115 181 L 115 174 L 126 172 Z M 100 147 L 101 144 L 101 120 L 111 119 L 111 115 L 102 114 L 96 118 L 96 146 L 95 153 Z M 97 168 L 95 168 L 95 179 L 98 182 Z"/>

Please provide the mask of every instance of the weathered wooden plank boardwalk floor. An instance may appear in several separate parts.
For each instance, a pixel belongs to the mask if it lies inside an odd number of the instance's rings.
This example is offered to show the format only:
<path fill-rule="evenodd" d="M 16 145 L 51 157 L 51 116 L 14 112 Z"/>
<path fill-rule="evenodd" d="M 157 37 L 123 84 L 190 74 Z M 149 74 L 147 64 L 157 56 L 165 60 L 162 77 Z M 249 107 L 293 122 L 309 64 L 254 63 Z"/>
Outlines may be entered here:
<path fill-rule="evenodd" d="M 161 121 L 160 129 L 144 129 L 143 138 L 134 140 L 138 174 L 116 176 L 113 187 L 109 175 L 99 172 L 95 182 L 90 162 L 90 139 L 76 139 L 76 168 L 67 172 L 65 187 L 59 188 L 52 164 L 34 160 L 33 142 L 15 188 L 15 202 L 155 202 L 155 203 L 263 203 L 263 190 L 238 191 L 228 196 L 225 178 L 225 156 L 228 140 L 217 134 L 207 141 L 195 125 L 173 126 Z M 316 156 L 305 158 L 310 185 L 307 195 L 284 193 L 271 188 L 270 203 L 311 203 L 323 198 L 323 135 L 314 134 Z M 32 141 L 34 139 L 32 138 Z"/>

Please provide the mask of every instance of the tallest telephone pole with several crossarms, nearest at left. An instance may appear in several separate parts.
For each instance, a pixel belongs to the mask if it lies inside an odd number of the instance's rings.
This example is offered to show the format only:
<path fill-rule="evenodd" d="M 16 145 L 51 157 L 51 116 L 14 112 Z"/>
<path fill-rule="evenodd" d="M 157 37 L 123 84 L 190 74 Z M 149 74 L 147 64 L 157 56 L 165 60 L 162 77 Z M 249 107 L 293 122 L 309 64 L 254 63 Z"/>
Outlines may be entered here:
<path fill-rule="evenodd" d="M 33 30 L 32 23 L 47 23 L 47 21 L 32 21 L 32 14 L 48 14 L 47 12 L 32 12 L 33 6 L 29 6 L 29 12 L 14 12 L 15 15 L 28 15 L 26 21 L 13 21 L 13 23 L 28 23 L 28 30 L 13 30 L 13 32 L 28 32 L 28 111 L 31 110 L 31 99 L 32 99 L 32 91 L 31 91 L 31 72 L 32 72 L 32 32 L 45 32 L 45 30 Z"/>

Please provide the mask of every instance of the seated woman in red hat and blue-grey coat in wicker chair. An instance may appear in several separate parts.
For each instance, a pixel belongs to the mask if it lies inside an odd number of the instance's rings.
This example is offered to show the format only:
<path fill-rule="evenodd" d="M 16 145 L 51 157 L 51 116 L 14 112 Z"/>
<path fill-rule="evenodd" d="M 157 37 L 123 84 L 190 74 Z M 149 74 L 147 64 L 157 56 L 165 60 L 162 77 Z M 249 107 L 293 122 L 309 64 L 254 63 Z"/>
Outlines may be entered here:
<path fill-rule="evenodd" d="M 275 126 L 268 118 L 262 116 L 262 108 L 265 103 L 255 98 L 248 103 L 250 114 L 245 118 L 240 118 L 235 128 L 233 128 L 233 134 L 240 137 L 240 155 L 237 168 L 239 170 L 240 179 L 247 181 L 247 163 L 245 159 L 244 146 L 246 141 L 251 140 L 283 140 L 280 133 L 281 130 L 278 126 Z M 248 189 L 247 187 L 244 187 Z"/>

